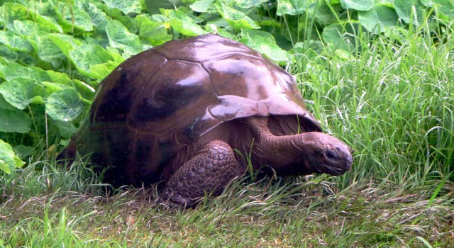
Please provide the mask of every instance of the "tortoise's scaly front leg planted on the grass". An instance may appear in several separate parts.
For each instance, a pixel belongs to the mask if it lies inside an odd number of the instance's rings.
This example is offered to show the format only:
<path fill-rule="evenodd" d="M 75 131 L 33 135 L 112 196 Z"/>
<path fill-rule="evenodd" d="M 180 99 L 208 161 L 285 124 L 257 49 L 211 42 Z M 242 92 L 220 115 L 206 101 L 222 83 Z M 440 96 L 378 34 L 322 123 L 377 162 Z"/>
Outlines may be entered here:
<path fill-rule="evenodd" d="M 193 207 L 205 194 L 220 195 L 243 171 L 230 145 L 213 140 L 175 171 L 162 191 L 162 199 L 171 205 Z"/>

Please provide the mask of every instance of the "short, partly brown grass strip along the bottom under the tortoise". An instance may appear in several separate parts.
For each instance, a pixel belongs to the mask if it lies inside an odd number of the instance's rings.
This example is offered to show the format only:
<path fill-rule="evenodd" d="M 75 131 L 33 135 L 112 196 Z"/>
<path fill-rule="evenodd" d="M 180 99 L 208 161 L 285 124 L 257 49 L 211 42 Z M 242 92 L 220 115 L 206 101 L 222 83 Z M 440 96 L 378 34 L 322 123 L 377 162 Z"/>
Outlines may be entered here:
<path fill-rule="evenodd" d="M 62 181 L 77 177 L 80 170 L 40 176 Z M 1 204 L 4 245 L 423 247 L 424 241 L 432 247 L 454 246 L 451 182 L 441 184 L 440 194 L 431 201 L 436 182 L 397 186 L 362 181 L 341 190 L 326 176 L 254 183 L 245 178 L 196 209 L 167 210 L 153 202 L 153 188 L 102 196 L 102 187 L 96 185 L 69 191 L 77 188 L 73 181 L 51 193 L 52 183 L 40 184 L 42 193 L 23 196 L 22 186 L 33 180 L 38 176 L 20 178 L 11 188 L 15 193 Z"/>

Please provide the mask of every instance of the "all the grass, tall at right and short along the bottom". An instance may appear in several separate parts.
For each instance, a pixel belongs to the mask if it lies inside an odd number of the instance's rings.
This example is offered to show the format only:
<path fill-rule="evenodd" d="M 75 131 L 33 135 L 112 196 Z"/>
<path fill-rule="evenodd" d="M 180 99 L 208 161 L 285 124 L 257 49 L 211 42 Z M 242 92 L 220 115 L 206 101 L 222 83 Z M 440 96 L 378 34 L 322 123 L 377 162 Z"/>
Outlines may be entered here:
<path fill-rule="evenodd" d="M 153 187 L 106 196 L 81 164 L 38 161 L 1 178 L 0 247 L 454 247 L 454 32 L 441 33 L 362 37 L 355 56 L 324 47 L 289 64 L 326 131 L 355 149 L 343 176 L 246 176 L 167 210 Z"/>

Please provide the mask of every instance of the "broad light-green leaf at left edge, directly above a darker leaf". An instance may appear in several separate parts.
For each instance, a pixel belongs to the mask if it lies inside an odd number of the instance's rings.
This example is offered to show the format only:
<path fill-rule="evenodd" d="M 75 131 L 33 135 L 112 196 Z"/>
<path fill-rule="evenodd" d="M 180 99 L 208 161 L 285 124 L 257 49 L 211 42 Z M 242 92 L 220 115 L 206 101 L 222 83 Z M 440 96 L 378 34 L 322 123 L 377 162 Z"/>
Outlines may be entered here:
<path fill-rule="evenodd" d="M 0 94 L 19 109 L 26 108 L 30 103 L 43 103 L 43 97 L 47 96 L 43 86 L 34 80 L 21 77 L 0 84 Z"/>

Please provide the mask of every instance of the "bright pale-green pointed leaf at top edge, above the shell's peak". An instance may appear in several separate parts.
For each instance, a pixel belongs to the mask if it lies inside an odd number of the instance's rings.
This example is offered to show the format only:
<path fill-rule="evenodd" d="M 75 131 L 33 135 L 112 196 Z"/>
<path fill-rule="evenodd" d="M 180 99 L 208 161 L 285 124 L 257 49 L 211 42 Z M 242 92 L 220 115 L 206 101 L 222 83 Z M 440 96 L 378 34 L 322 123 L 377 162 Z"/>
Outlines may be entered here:
<path fill-rule="evenodd" d="M 228 25 L 232 28 L 240 29 L 258 29 L 260 26 L 257 25 L 249 16 L 245 13 L 237 11 L 226 4 L 216 3 L 216 9 L 221 16 L 226 19 Z"/>

